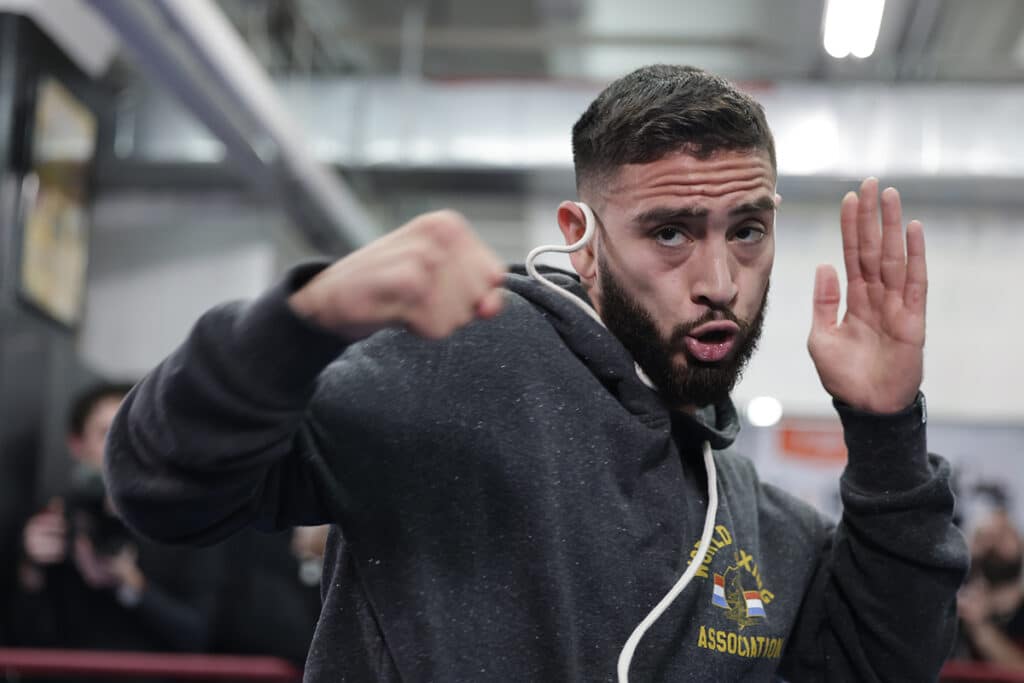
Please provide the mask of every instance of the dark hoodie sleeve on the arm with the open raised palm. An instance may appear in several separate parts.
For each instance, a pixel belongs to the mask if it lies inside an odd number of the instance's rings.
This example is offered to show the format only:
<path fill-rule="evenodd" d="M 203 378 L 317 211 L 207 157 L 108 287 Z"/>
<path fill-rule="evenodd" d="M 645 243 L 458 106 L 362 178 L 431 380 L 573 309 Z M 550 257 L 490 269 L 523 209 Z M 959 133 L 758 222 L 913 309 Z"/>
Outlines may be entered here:
<path fill-rule="evenodd" d="M 801 681 L 934 681 L 967 572 L 949 465 L 929 455 L 924 397 L 894 415 L 837 403 L 849 460 L 843 518 L 822 537 L 779 674 Z"/>

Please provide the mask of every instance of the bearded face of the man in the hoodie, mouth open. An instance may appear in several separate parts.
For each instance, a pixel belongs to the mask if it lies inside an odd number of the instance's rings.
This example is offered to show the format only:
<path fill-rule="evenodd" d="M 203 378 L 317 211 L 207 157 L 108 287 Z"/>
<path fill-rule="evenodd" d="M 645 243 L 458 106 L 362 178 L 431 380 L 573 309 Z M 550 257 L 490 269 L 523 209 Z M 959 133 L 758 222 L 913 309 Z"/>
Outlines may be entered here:
<path fill-rule="evenodd" d="M 761 332 L 775 255 L 766 155 L 624 166 L 598 198 L 594 304 L 677 408 L 724 399 Z"/>

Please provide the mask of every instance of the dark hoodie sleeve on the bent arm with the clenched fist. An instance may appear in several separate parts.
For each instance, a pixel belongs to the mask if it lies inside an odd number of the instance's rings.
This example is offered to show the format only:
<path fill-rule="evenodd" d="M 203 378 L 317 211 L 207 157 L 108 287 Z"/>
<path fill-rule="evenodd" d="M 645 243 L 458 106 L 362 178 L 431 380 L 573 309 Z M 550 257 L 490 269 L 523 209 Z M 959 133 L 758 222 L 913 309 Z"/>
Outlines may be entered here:
<path fill-rule="evenodd" d="M 251 303 L 210 310 L 125 398 L 105 478 L 136 530 L 205 544 L 246 524 L 328 518 L 330 477 L 307 408 L 344 344 L 288 305 L 323 267 L 298 267 Z"/>

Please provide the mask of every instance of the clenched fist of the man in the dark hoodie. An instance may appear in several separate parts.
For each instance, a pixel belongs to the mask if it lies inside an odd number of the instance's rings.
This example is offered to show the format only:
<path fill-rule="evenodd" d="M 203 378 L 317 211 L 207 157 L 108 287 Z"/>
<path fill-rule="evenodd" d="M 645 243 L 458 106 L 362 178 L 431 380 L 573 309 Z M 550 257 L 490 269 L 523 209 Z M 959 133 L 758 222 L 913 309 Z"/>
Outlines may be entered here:
<path fill-rule="evenodd" d="M 346 341 L 392 326 L 440 339 L 498 314 L 504 273 L 465 218 L 436 211 L 333 263 L 289 303 Z"/>

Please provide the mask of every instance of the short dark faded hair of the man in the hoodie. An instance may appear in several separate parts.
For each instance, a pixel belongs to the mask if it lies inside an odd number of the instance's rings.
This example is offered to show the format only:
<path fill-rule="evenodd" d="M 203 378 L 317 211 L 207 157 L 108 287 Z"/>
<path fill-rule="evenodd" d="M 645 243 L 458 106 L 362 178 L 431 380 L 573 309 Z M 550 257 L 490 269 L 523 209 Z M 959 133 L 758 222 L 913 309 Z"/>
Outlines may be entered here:
<path fill-rule="evenodd" d="M 653 65 L 611 83 L 572 126 L 577 190 L 606 181 L 626 164 L 685 152 L 765 152 L 775 141 L 764 109 L 729 81 L 696 67 Z"/>

